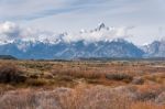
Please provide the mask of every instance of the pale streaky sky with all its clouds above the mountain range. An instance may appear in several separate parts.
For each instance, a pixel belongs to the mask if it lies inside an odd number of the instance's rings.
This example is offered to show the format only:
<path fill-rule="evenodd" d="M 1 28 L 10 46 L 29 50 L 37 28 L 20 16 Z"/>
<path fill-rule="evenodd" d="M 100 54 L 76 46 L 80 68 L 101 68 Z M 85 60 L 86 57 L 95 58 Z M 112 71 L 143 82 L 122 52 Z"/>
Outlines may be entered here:
<path fill-rule="evenodd" d="M 76 32 L 92 30 L 100 22 L 116 28 L 112 37 L 122 30 L 120 35 L 129 35 L 125 39 L 136 45 L 151 43 L 165 36 L 165 1 L 0 0 L 0 39 L 20 34 L 20 39 L 30 34 L 37 39 L 37 34 L 63 32 L 74 34 L 69 39 L 77 39 Z"/>

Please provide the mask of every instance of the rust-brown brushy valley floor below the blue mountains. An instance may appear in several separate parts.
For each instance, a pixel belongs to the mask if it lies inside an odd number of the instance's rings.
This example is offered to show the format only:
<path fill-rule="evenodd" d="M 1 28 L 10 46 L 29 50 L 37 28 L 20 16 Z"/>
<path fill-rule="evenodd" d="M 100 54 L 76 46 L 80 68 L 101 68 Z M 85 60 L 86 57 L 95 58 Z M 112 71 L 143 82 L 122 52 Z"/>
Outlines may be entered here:
<path fill-rule="evenodd" d="M 0 61 L 0 109 L 165 109 L 165 62 Z"/>

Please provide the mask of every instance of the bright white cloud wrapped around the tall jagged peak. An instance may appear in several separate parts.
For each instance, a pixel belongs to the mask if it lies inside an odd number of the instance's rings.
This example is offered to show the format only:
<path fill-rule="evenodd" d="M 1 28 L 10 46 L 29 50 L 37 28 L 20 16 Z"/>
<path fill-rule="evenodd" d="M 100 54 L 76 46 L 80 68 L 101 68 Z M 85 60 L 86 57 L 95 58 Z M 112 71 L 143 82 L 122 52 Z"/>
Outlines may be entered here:
<path fill-rule="evenodd" d="M 108 28 L 103 25 L 100 29 L 100 25 L 95 30 L 81 30 L 79 33 L 68 33 L 63 37 L 65 42 L 77 42 L 86 41 L 87 43 L 99 42 L 99 41 L 112 41 L 116 39 L 128 39 L 131 36 L 129 30 L 132 30 L 133 26 L 121 26 L 121 28 Z"/>

